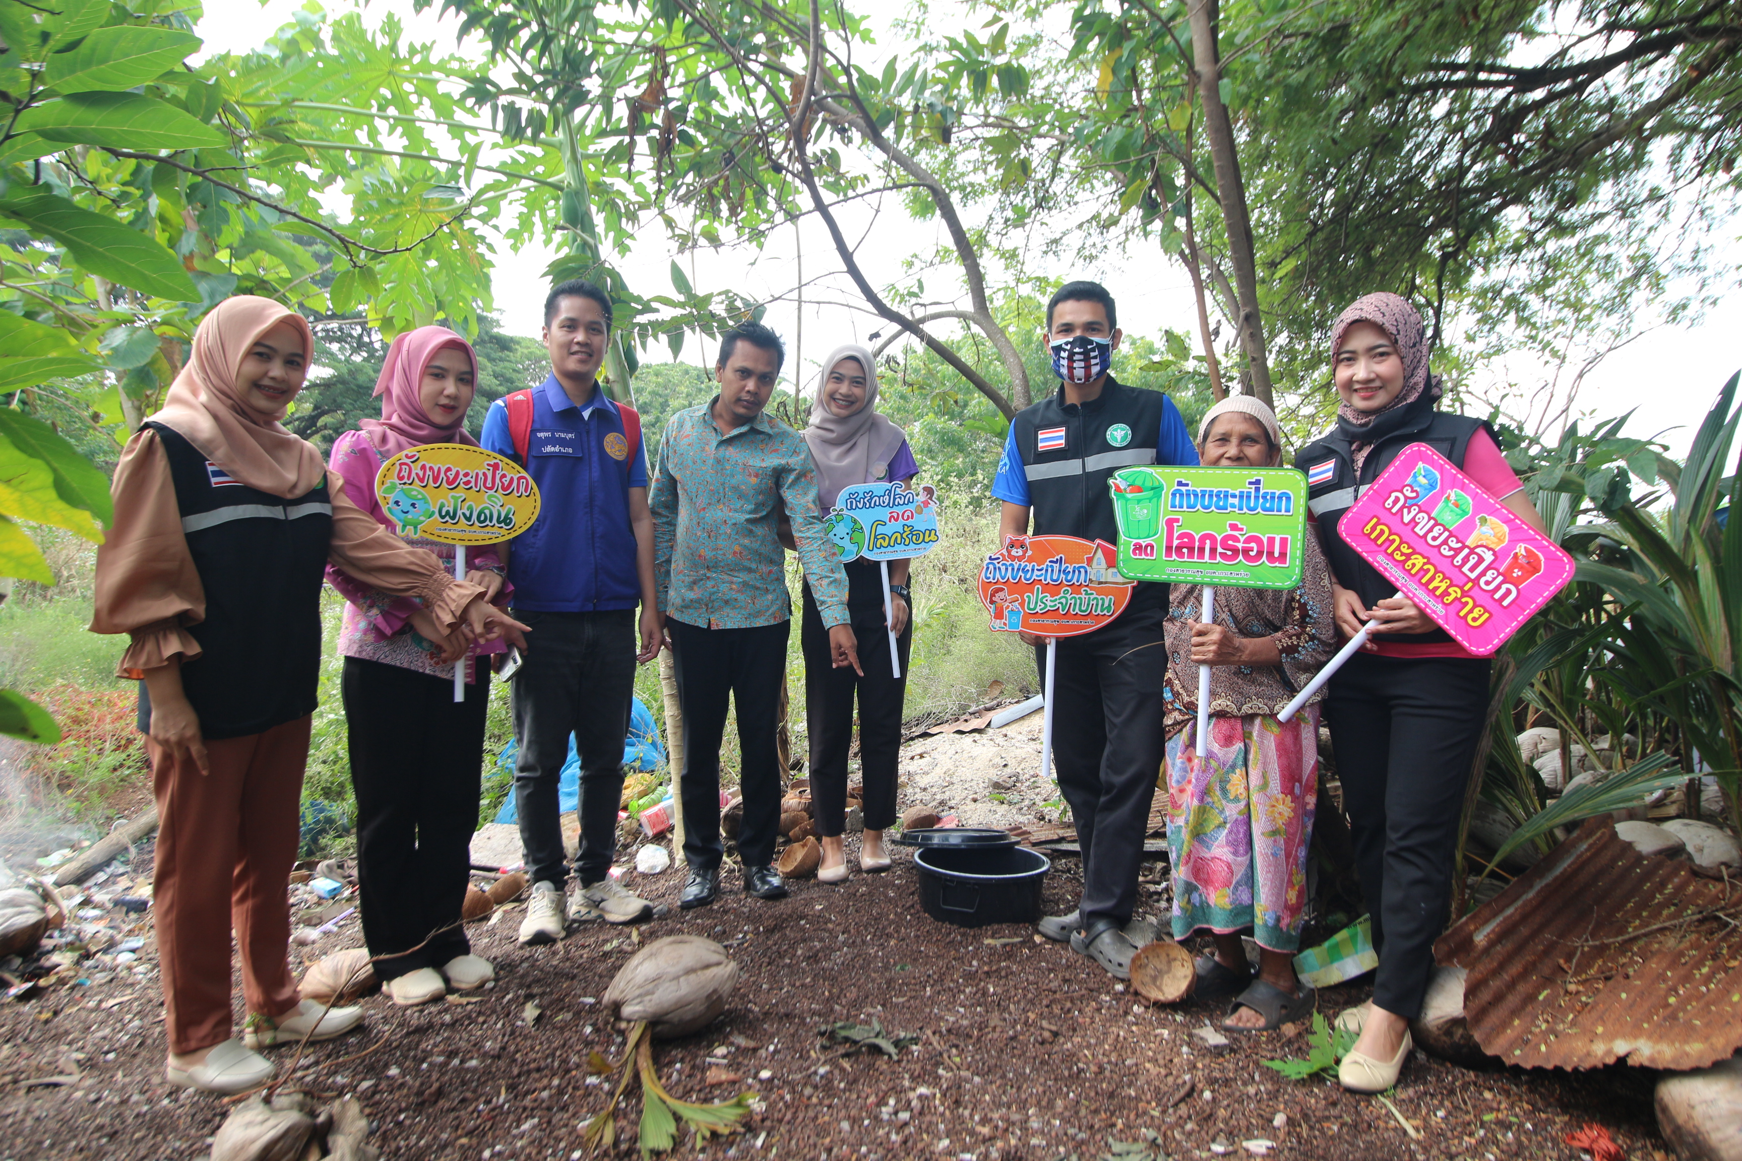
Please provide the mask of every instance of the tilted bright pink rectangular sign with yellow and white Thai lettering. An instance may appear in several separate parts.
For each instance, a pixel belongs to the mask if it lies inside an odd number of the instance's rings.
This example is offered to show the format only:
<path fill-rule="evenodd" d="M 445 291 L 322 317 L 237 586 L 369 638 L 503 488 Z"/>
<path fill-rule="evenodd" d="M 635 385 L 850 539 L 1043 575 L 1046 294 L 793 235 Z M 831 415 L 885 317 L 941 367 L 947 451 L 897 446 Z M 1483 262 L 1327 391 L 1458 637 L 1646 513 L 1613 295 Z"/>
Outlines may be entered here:
<path fill-rule="evenodd" d="M 1453 641 L 1489 656 L 1573 580 L 1573 557 L 1427 444 L 1338 520 L 1343 541 Z"/>

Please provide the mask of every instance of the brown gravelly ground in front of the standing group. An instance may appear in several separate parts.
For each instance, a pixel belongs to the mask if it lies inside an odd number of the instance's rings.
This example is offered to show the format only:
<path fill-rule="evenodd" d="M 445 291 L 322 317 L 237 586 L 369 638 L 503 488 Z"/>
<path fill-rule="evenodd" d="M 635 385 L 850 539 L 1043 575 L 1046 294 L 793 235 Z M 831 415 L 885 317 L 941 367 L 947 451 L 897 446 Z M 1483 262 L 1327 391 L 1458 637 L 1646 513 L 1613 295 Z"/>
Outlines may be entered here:
<path fill-rule="evenodd" d="M 681 881 L 669 870 L 631 876 L 631 886 L 674 903 Z M 1059 860 L 1049 909 L 1066 910 L 1075 888 L 1075 862 Z M 604 1102 L 585 1058 L 622 1046 L 596 997 L 636 943 L 624 928 L 589 926 L 552 947 L 519 949 L 519 909 L 498 914 L 470 928 L 476 950 L 498 968 L 479 1003 L 404 1010 L 368 999 L 361 1032 L 312 1048 L 303 1062 L 308 1090 L 362 1100 L 385 1158 L 585 1156 L 580 1126 Z M 1266 1057 L 1305 1055 L 1305 1037 L 1239 1037 L 1209 1055 L 1190 1036 L 1216 1015 L 1207 1004 L 1138 1004 L 1026 926 L 962 929 L 927 919 L 906 853 L 887 876 L 855 874 L 840 888 L 800 882 L 775 903 L 744 896 L 728 869 L 716 905 L 641 928 L 643 938 L 676 933 L 719 940 L 744 975 L 712 1027 L 658 1046 L 662 1077 L 692 1100 L 739 1088 L 761 1100 L 746 1133 L 704 1149 L 685 1133 L 678 1158 L 1089 1161 L 1122 1142 L 1125 1158 L 1155 1158 L 1157 1149 L 1209 1158 L 1251 1156 L 1244 1142 L 1268 1140 L 1268 1156 L 1331 1161 L 1573 1159 L 1580 1152 L 1563 1138 L 1594 1123 L 1627 1158 L 1667 1161 L 1650 1077 L 1627 1069 L 1467 1072 L 1418 1055 L 1394 1097 L 1420 1133 L 1411 1140 L 1374 1100 L 1261 1067 Z M 314 957 L 359 942 L 352 919 L 296 950 Z M 150 950 L 141 963 L 155 963 Z M 1320 1006 L 1334 1013 L 1364 996 L 1333 989 Z M 542 1008 L 531 1027 L 528 1001 Z M 150 968 L 5 1003 L 0 1159 L 202 1158 L 228 1105 L 164 1084 L 159 1011 Z M 918 1034 L 918 1046 L 897 1060 L 840 1057 L 817 1036 L 836 1020 L 873 1018 Z M 280 1069 L 293 1051 L 275 1053 Z M 709 1088 L 711 1055 L 725 1057 L 742 1084 Z M 66 1076 L 70 1065 L 78 1070 L 70 1084 L 24 1086 Z M 638 1114 L 639 1100 L 625 1100 L 618 1156 L 634 1156 Z"/>

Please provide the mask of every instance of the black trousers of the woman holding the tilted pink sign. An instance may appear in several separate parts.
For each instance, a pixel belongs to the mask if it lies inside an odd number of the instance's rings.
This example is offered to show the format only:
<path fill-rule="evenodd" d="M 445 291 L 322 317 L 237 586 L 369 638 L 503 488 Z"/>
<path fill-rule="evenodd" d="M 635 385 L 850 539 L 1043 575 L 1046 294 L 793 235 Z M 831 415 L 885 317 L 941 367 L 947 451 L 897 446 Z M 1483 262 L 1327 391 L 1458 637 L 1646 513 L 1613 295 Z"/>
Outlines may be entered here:
<path fill-rule="evenodd" d="M 1331 679 L 1324 714 L 1373 916 L 1373 1003 L 1421 1013 L 1434 940 L 1446 929 L 1458 818 L 1488 714 L 1486 658 L 1357 653 Z"/>

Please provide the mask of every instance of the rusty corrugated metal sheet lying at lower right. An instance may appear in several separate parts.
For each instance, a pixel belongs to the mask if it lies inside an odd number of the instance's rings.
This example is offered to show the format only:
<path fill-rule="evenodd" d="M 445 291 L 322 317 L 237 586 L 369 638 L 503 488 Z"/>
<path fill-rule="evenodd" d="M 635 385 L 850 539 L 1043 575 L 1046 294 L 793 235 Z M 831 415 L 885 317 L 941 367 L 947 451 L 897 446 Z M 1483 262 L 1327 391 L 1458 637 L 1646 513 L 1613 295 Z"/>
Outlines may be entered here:
<path fill-rule="evenodd" d="M 1742 882 L 1639 855 L 1592 818 L 1434 956 L 1469 971 L 1470 1032 L 1507 1064 L 1700 1069 L 1742 1048 L 1737 923 Z"/>

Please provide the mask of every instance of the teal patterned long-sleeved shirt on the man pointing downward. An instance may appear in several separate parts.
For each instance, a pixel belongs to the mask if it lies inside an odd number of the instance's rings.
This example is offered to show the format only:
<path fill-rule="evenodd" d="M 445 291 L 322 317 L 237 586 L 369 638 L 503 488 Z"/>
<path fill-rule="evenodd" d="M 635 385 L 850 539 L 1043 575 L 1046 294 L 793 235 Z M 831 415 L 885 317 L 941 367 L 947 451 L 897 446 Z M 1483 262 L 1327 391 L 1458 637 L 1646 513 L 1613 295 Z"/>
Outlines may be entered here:
<path fill-rule="evenodd" d="M 660 613 L 704 628 L 789 620 L 784 507 L 822 623 L 847 625 L 847 571 L 817 515 L 817 468 L 803 437 L 768 414 L 721 435 L 712 409 L 709 400 L 679 411 L 658 444 L 648 507 Z"/>

